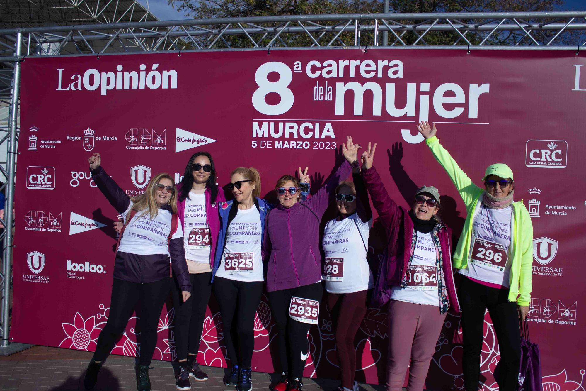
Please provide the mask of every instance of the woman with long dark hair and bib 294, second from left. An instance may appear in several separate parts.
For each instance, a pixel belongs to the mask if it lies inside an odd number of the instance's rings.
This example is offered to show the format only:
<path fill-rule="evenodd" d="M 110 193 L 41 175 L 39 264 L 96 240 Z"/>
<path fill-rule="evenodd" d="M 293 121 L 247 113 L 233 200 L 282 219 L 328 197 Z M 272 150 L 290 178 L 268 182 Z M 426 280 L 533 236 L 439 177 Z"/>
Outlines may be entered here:
<path fill-rule="evenodd" d="M 177 213 L 185 232 L 183 245 L 192 291 L 191 297 L 183 302 L 175 276 L 171 284 L 175 308 L 175 350 L 179 361 L 175 386 L 178 390 L 189 390 L 189 376 L 197 382 L 207 380 L 196 357 L 207 302 L 212 294 L 212 268 L 220 232 L 218 204 L 226 201 L 222 187 L 216 184 L 212 155 L 201 151 L 189 158 L 177 192 Z"/>

